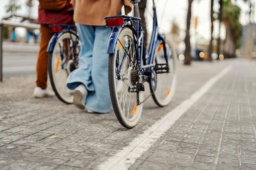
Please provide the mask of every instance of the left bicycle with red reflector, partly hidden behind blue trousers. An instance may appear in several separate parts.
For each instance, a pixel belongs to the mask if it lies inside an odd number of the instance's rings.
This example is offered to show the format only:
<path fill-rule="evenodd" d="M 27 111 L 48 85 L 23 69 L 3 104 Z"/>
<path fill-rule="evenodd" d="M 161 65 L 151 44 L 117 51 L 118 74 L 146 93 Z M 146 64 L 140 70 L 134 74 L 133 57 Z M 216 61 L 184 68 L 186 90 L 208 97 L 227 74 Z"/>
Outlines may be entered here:
<path fill-rule="evenodd" d="M 75 25 L 54 24 L 49 25 L 52 36 L 47 51 L 48 72 L 52 89 L 58 99 L 62 102 L 73 103 L 73 91 L 66 86 L 67 76 L 79 64 L 79 36 L 77 35 Z"/>

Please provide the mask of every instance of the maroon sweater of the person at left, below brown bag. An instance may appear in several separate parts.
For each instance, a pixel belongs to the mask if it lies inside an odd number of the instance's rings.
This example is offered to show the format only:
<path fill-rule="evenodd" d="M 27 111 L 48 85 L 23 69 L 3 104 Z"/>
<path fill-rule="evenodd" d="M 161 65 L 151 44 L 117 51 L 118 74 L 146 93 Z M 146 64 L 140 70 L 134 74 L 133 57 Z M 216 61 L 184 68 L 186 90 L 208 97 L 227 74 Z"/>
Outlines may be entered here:
<path fill-rule="evenodd" d="M 71 7 L 70 0 L 67 7 L 61 11 L 45 10 L 38 8 L 37 22 L 39 24 L 67 24 L 73 20 L 73 16 L 67 13 Z"/>

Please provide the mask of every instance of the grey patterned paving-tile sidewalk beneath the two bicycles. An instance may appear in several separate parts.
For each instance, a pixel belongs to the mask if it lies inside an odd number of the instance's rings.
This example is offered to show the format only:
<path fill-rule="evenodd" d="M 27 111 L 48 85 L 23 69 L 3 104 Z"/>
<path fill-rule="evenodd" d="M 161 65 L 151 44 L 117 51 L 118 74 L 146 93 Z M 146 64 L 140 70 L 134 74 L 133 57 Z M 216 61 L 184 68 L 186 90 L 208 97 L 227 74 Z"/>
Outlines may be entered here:
<path fill-rule="evenodd" d="M 135 145 L 159 119 L 230 65 L 167 131 L 148 134 L 161 133 L 148 139 L 150 145 Z M 34 86 L 35 76 L 0 82 L 1 170 L 105 170 L 111 164 L 115 168 L 109 169 L 119 170 L 256 169 L 255 62 L 180 63 L 171 104 L 159 108 L 149 98 L 132 129 L 123 128 L 113 111 L 90 114 L 57 97 L 34 99 Z M 132 147 L 136 152 L 130 153 Z M 125 162 L 109 163 L 116 155 Z"/>

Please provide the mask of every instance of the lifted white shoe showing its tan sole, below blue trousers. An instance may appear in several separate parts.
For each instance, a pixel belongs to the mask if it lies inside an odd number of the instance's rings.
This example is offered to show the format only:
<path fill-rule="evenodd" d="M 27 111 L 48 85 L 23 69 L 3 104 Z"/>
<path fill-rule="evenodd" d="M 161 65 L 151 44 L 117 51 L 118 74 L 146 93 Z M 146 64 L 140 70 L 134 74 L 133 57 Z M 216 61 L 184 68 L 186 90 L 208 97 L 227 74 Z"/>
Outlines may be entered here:
<path fill-rule="evenodd" d="M 75 88 L 73 93 L 73 104 L 80 109 L 85 108 L 85 100 L 88 95 L 88 91 L 83 84 L 80 84 Z"/>

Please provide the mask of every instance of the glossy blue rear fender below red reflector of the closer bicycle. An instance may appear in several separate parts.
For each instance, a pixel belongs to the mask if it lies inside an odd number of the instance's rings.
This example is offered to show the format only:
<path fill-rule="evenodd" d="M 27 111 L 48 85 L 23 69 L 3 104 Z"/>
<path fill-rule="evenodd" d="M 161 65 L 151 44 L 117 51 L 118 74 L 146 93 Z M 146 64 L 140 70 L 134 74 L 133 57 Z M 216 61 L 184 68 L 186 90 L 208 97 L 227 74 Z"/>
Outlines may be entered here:
<path fill-rule="evenodd" d="M 115 52 L 117 46 L 117 38 L 121 32 L 123 26 L 114 27 L 109 35 L 106 53 L 111 54 Z"/>

